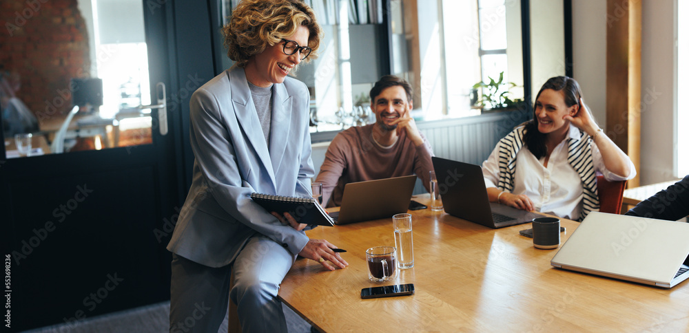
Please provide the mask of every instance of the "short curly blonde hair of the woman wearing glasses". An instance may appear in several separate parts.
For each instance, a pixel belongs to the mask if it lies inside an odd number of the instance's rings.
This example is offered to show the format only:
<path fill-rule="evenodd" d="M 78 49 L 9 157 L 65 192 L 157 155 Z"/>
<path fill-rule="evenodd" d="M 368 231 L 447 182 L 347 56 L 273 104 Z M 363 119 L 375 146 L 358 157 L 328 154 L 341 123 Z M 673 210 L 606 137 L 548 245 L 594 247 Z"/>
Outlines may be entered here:
<path fill-rule="evenodd" d="M 308 62 L 317 58 L 321 34 L 311 7 L 301 0 L 243 0 L 221 30 L 227 56 L 239 67 L 245 67 L 251 56 L 295 34 L 301 25 L 309 29 L 308 46 L 312 52 L 304 60 Z"/>

